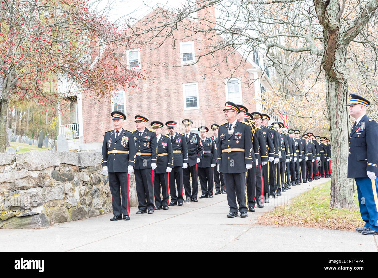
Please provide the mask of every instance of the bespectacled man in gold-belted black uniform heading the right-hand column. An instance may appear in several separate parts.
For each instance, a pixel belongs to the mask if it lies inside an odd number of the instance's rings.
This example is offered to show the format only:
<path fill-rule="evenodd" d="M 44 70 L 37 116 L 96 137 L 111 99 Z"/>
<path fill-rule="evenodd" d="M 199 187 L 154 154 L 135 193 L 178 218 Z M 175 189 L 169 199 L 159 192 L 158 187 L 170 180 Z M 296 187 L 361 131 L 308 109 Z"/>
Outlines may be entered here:
<path fill-rule="evenodd" d="M 219 127 L 220 140 L 217 144 L 218 172 L 223 173 L 227 188 L 227 201 L 229 205 L 228 218 L 248 217 L 248 204 L 246 200 L 247 170 L 252 168 L 253 147 L 251 128 L 246 122 L 236 119 L 240 108 L 232 102 L 226 102 L 223 109 L 227 122 Z M 236 203 L 237 201 L 237 203 Z"/>

